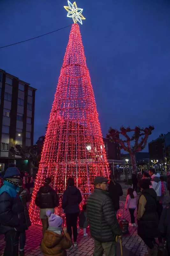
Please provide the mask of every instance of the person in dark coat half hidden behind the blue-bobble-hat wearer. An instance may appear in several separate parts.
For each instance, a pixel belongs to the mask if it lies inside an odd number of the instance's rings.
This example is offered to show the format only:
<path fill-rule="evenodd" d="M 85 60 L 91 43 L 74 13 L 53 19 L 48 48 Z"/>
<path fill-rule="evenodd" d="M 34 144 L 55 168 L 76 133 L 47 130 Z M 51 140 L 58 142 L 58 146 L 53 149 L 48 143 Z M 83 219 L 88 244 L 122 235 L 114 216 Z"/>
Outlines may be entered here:
<path fill-rule="evenodd" d="M 21 198 L 23 207 L 24 207 L 24 213 L 26 218 L 26 226 L 29 228 L 31 226 L 31 220 L 28 212 L 28 207 L 26 203 L 28 203 L 31 200 L 31 196 L 28 192 L 28 190 L 24 187 L 23 180 L 20 179 L 19 187 L 18 187 L 18 193 Z M 26 244 L 26 232 L 22 232 L 19 234 L 19 245 L 20 245 L 20 256 L 24 256 L 24 247 Z"/>

